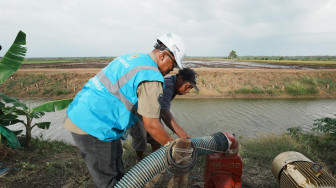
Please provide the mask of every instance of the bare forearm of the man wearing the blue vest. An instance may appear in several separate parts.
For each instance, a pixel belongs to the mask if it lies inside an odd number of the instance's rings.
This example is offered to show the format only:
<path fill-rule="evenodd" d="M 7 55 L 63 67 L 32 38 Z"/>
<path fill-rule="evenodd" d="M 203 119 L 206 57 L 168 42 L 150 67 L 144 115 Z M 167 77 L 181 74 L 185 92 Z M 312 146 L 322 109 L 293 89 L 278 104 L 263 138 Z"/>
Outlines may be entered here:
<path fill-rule="evenodd" d="M 146 131 L 162 145 L 167 144 L 169 141 L 174 140 L 167 131 L 163 128 L 159 118 L 149 118 L 142 116 L 144 127 Z"/>

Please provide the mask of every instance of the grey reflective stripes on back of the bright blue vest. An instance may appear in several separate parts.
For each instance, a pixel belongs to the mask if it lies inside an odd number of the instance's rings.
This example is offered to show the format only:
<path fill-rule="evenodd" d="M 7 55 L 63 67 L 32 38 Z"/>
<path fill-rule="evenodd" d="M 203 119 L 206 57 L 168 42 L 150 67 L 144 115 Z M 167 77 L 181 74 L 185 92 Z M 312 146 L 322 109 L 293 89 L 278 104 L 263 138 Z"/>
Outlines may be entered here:
<path fill-rule="evenodd" d="M 126 107 L 128 111 L 132 111 L 133 103 L 130 102 L 123 94 L 120 92 L 120 88 L 122 88 L 138 71 L 140 70 L 154 70 L 160 72 L 157 67 L 150 66 L 150 65 L 141 65 L 134 67 L 126 74 L 121 76 L 115 84 L 113 84 L 110 79 L 106 76 L 103 71 L 100 71 L 97 74 L 99 81 L 106 87 L 106 89 L 115 97 L 117 97 Z"/>

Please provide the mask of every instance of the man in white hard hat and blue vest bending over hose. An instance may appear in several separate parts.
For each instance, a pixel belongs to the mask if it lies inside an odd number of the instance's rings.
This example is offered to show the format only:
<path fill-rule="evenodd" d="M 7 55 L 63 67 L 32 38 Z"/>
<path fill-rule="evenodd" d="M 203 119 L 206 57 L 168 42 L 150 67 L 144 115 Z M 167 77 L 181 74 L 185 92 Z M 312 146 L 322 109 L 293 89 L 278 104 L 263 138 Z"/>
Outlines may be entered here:
<path fill-rule="evenodd" d="M 124 175 L 120 138 L 142 116 L 144 128 L 160 144 L 173 138 L 161 124 L 159 96 L 164 78 L 182 69 L 185 45 L 176 34 L 157 39 L 148 54 L 120 56 L 91 78 L 67 110 L 64 126 L 97 187 L 113 187 Z M 139 115 L 138 115 L 139 114 Z"/>

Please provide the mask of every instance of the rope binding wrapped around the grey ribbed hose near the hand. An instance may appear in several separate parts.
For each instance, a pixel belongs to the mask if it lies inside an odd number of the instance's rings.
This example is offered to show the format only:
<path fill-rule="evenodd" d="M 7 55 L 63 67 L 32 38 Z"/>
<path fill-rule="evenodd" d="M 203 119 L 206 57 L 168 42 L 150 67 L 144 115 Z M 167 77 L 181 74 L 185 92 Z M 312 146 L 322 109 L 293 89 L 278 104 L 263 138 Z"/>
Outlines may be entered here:
<path fill-rule="evenodd" d="M 165 161 L 167 171 L 175 175 L 187 174 L 191 171 L 192 167 L 194 167 L 196 164 L 197 148 L 193 142 L 191 142 L 191 149 L 173 148 L 175 144 L 176 144 L 176 141 L 170 142 L 165 152 L 164 161 Z M 182 157 L 177 152 L 188 153 L 189 155 L 186 157 Z M 172 153 L 174 153 L 175 155 L 177 154 L 179 158 L 177 161 L 175 161 L 172 158 Z M 188 162 L 188 164 L 180 165 L 179 163 L 181 163 L 182 161 Z"/>

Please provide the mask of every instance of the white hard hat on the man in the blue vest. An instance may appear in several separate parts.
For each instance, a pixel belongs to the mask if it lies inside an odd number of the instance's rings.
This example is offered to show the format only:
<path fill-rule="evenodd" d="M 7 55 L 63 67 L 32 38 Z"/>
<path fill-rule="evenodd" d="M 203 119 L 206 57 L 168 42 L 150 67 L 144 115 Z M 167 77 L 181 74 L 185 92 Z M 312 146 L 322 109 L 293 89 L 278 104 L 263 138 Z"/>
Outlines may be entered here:
<path fill-rule="evenodd" d="M 179 69 L 183 69 L 182 61 L 186 55 L 186 48 L 182 38 L 174 33 L 168 33 L 157 38 L 171 51 L 176 59 Z"/>

